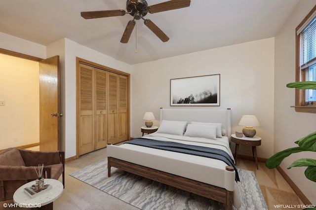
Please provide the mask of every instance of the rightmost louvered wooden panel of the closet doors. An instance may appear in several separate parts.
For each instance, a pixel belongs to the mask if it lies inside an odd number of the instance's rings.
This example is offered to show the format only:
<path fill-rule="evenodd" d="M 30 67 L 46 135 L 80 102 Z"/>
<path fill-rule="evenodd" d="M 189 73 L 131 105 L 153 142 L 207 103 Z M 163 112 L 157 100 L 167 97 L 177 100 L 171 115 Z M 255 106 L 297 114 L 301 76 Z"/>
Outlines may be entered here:
<path fill-rule="evenodd" d="M 128 139 L 128 92 L 127 92 L 127 76 L 119 75 L 119 103 L 118 103 L 118 141 Z"/>

